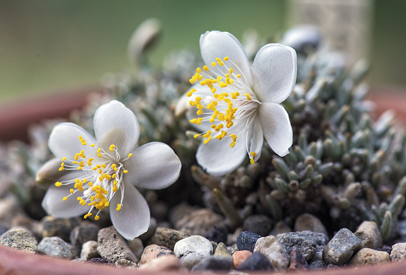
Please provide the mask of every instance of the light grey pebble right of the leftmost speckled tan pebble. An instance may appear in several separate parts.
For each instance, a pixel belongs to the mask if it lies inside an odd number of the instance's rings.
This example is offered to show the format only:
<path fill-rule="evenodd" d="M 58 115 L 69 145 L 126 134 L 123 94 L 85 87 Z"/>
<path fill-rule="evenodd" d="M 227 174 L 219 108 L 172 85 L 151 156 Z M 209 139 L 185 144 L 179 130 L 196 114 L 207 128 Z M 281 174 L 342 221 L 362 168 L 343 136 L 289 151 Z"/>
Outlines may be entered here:
<path fill-rule="evenodd" d="M 38 253 L 58 258 L 71 259 L 76 256 L 76 249 L 57 236 L 44 237 L 38 244 Z"/>

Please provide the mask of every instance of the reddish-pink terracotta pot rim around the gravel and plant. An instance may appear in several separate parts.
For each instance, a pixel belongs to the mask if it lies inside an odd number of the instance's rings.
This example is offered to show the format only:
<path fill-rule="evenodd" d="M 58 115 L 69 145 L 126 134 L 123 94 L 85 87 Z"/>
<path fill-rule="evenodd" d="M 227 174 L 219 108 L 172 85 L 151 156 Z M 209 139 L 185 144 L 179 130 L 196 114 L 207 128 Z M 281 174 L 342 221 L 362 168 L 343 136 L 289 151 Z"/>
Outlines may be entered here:
<path fill-rule="evenodd" d="M 40 122 L 45 118 L 67 117 L 71 110 L 82 108 L 87 104 L 87 95 L 91 91 L 100 92 L 101 88 L 84 89 L 79 92 L 63 93 L 33 100 L 24 100 L 0 110 L 0 140 L 19 139 L 27 141 L 27 126 Z M 387 109 L 394 109 L 400 119 L 406 121 L 406 92 L 382 93 L 374 91 L 369 99 L 377 103 L 377 113 Z M 112 266 L 78 263 L 69 260 L 51 258 L 39 254 L 31 254 L 8 247 L 0 246 L 0 274 L 13 275 L 100 275 L 100 274 L 151 274 L 162 275 L 161 271 L 138 271 Z M 179 272 L 165 271 L 165 274 Z M 187 275 L 187 272 L 180 272 Z M 223 272 L 215 272 L 223 273 Z M 269 274 L 269 272 L 252 272 L 255 274 Z M 321 270 L 309 272 L 295 272 L 295 274 L 325 274 L 325 275 L 400 275 L 406 273 L 406 261 L 381 264 L 376 266 L 343 267 L 339 270 Z"/>

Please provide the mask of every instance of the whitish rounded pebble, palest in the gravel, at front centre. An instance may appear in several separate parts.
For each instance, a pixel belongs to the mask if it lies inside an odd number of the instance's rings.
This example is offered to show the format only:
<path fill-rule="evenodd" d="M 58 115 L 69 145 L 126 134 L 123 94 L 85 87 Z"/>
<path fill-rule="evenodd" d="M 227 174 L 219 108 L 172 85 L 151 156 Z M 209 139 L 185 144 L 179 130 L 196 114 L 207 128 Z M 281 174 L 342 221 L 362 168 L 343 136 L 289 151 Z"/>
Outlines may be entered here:
<path fill-rule="evenodd" d="M 179 240 L 175 244 L 174 252 L 186 268 L 191 268 L 201 259 L 210 256 L 213 246 L 207 238 L 193 235 Z"/>

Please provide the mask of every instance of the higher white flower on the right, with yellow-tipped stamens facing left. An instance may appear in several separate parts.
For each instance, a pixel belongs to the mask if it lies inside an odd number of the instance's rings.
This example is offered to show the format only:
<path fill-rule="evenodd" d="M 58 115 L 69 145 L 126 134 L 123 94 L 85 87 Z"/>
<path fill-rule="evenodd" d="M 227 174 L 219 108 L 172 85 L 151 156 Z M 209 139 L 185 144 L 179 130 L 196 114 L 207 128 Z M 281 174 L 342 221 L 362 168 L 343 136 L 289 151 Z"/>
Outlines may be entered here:
<path fill-rule="evenodd" d="M 254 163 L 261 155 L 263 136 L 275 153 L 285 156 L 292 145 L 292 127 L 279 104 L 296 82 L 296 52 L 267 44 L 251 67 L 241 43 L 216 30 L 200 36 L 200 52 L 206 65 L 197 68 L 190 80 L 196 84 L 176 108 L 177 114 L 188 109 L 189 121 L 205 139 L 197 149 L 198 164 L 220 176 L 238 167 L 247 153 Z"/>

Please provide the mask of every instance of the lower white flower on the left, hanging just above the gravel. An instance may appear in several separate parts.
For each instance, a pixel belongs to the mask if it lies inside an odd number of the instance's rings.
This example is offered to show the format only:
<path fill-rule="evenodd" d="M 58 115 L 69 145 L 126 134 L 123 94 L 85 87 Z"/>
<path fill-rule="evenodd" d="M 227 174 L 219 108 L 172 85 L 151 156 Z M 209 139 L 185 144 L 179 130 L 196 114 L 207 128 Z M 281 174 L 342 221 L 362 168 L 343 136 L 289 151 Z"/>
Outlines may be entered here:
<path fill-rule="evenodd" d="M 113 100 L 93 118 L 94 138 L 74 123 L 56 125 L 48 146 L 63 171 L 45 194 L 42 206 L 56 218 L 92 215 L 110 205 L 116 230 L 126 239 L 147 231 L 150 211 L 136 187 L 162 189 L 179 177 L 181 162 L 166 144 L 137 147 L 140 125 L 134 113 Z M 63 161 L 63 162 L 62 162 Z M 69 170 L 69 171 L 66 171 Z M 67 173 L 66 173 L 67 172 Z"/>

